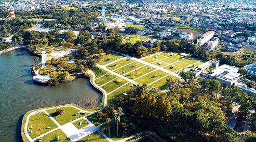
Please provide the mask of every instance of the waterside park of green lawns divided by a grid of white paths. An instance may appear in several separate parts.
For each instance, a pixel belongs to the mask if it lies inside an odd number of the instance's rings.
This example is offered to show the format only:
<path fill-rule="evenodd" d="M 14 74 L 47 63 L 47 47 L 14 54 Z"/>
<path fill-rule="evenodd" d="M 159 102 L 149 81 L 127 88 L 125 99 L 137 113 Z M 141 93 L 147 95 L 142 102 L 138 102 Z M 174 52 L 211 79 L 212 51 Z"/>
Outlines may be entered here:
<path fill-rule="evenodd" d="M 143 58 L 106 51 L 102 60 L 88 71 L 91 84 L 103 94 L 103 101 L 95 109 L 84 109 L 75 104 L 30 111 L 22 121 L 24 141 L 113 141 L 120 137 L 107 136 L 101 131 L 105 120 L 97 117 L 107 103 L 117 103 L 130 87 L 146 84 L 149 89 L 165 91 L 168 78 L 181 81 L 180 72 L 195 68 L 203 61 L 189 54 L 159 52 Z M 58 111 L 64 113 L 58 115 Z M 116 139 L 117 138 L 117 139 Z"/>

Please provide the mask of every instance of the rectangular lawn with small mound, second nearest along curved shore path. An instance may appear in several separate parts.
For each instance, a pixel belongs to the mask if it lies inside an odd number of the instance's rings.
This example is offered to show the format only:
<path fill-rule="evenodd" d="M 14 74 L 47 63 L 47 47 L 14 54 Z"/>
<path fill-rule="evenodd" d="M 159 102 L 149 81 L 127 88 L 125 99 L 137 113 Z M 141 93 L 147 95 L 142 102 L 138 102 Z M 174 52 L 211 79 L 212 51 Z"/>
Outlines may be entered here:
<path fill-rule="evenodd" d="M 107 83 L 106 85 L 102 86 L 101 88 L 104 89 L 107 93 L 115 90 L 116 88 L 124 85 L 125 83 L 127 83 L 126 80 L 124 80 L 123 78 L 116 78 L 114 81 L 111 81 L 110 83 Z"/>

